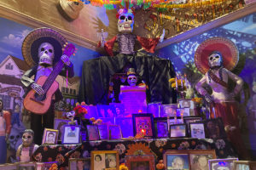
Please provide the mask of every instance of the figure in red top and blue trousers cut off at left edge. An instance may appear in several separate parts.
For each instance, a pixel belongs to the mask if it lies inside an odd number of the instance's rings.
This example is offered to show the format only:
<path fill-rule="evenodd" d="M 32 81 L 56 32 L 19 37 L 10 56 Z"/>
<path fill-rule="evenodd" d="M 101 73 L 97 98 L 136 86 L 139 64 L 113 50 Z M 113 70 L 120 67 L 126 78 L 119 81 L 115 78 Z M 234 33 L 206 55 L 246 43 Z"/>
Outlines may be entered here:
<path fill-rule="evenodd" d="M 3 99 L 0 99 L 0 164 L 6 162 L 7 145 L 6 140 L 11 130 L 11 114 L 3 111 Z"/>

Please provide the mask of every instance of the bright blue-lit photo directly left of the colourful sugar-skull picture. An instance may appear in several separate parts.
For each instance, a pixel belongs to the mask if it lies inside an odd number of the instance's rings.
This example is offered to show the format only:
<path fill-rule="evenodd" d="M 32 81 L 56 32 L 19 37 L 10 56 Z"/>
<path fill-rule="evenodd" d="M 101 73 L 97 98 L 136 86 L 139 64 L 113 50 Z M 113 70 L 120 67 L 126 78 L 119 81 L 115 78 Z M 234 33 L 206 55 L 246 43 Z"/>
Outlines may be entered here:
<path fill-rule="evenodd" d="M 116 117 L 115 124 L 121 127 L 123 138 L 133 136 L 132 117 Z"/>

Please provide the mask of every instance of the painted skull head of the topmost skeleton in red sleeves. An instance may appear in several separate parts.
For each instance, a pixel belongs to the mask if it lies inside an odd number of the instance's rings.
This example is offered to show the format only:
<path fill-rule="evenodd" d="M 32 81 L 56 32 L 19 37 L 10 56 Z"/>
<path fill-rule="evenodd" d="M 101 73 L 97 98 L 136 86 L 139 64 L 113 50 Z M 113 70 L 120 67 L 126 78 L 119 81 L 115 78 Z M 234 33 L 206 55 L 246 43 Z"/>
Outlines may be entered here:
<path fill-rule="evenodd" d="M 122 33 L 130 33 L 133 31 L 134 25 L 134 14 L 129 8 L 121 8 L 117 14 L 118 20 L 118 30 Z"/>

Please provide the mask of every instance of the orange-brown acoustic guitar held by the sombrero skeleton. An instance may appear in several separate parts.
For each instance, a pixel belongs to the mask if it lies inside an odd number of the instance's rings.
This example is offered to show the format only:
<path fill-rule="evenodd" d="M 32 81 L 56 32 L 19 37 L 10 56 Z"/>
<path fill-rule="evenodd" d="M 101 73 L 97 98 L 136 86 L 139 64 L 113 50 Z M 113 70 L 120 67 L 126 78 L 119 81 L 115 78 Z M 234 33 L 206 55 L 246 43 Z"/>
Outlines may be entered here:
<path fill-rule="evenodd" d="M 63 54 L 70 57 L 75 51 L 75 46 L 68 43 L 64 49 Z M 49 77 L 39 77 L 37 83 L 44 89 L 44 95 L 39 95 L 34 89 L 30 90 L 23 101 L 26 110 L 32 111 L 38 115 L 44 115 L 49 110 L 51 99 L 55 91 L 59 88 L 59 83 L 55 78 L 60 74 L 64 63 L 61 59 L 55 65 L 54 70 L 50 73 Z"/>

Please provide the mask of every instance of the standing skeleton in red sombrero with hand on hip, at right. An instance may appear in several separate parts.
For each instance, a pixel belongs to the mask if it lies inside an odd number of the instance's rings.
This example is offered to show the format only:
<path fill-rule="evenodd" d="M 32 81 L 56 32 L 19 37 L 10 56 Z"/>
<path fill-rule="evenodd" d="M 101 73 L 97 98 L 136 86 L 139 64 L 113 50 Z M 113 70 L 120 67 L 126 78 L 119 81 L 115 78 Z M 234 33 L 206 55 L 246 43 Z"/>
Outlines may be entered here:
<path fill-rule="evenodd" d="M 195 52 L 195 65 L 205 74 L 195 88 L 211 104 L 211 117 L 221 117 L 230 141 L 234 144 L 241 157 L 247 157 L 247 151 L 241 140 L 239 120 L 237 117 L 236 95 L 240 94 L 243 81 L 231 70 L 238 62 L 236 44 L 223 37 L 212 37 L 202 42 Z M 230 92 L 228 80 L 236 82 L 236 87 Z M 203 85 L 212 88 L 208 94 Z M 214 109 L 213 109 L 214 108 Z"/>

